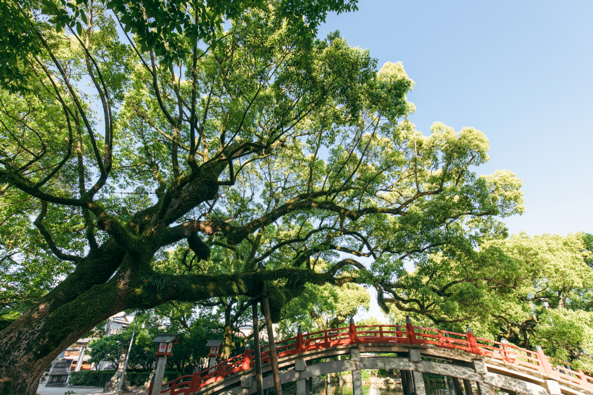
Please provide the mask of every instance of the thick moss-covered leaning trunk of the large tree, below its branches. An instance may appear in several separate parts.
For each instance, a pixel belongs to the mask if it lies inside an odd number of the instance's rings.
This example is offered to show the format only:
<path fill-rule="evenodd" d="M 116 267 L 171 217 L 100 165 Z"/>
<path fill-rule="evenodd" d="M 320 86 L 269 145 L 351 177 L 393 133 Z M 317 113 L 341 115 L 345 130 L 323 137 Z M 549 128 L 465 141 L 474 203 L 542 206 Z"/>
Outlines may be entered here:
<path fill-rule="evenodd" d="M 91 253 L 66 280 L 0 331 L 0 394 L 34 395 L 53 359 L 97 323 L 127 309 L 121 278 L 97 284 L 109 279 L 125 255 L 110 242 L 106 245 L 100 249 L 103 259 Z"/>

